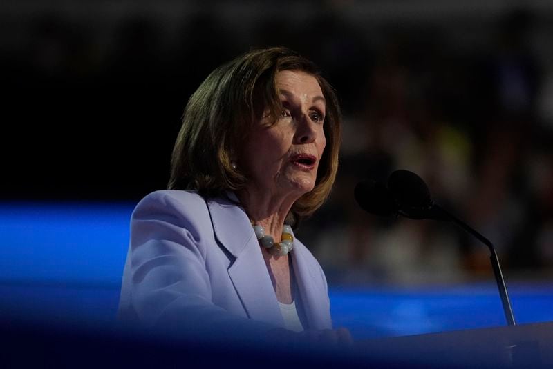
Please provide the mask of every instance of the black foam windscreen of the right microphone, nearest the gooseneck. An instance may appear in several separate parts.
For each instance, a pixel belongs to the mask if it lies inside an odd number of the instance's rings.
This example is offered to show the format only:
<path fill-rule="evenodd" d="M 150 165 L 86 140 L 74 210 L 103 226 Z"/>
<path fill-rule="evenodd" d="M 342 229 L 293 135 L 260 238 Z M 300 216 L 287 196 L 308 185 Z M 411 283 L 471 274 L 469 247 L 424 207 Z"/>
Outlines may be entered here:
<path fill-rule="evenodd" d="M 388 177 L 388 188 L 400 203 L 409 208 L 427 208 L 431 206 L 428 186 L 422 178 L 409 170 L 396 170 Z"/>

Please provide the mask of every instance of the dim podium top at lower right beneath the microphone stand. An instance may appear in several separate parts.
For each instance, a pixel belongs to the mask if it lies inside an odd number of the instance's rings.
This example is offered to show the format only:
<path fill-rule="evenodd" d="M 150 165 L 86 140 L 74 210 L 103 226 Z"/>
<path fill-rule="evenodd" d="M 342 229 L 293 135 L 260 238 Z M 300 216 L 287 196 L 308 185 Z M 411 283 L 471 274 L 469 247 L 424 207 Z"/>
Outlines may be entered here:
<path fill-rule="evenodd" d="M 405 368 L 553 368 L 553 322 L 369 339 L 360 352 Z"/>

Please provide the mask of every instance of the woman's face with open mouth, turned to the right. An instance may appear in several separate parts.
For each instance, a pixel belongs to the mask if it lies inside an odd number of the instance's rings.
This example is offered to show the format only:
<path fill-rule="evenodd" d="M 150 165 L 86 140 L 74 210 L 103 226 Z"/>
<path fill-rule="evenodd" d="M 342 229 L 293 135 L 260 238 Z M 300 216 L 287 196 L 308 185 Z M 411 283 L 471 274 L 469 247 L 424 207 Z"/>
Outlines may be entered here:
<path fill-rule="evenodd" d="M 326 146 L 325 99 L 317 79 L 305 72 L 283 70 L 276 86 L 283 111 L 272 126 L 268 110 L 254 124 L 238 165 L 252 190 L 299 197 L 315 186 Z"/>

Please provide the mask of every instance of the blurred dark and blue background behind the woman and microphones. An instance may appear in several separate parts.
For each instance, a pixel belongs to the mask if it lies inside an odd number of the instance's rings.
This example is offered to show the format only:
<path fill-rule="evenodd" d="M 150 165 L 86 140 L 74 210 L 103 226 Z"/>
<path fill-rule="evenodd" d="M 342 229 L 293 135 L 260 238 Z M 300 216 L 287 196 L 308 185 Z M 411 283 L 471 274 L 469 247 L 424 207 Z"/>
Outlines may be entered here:
<path fill-rule="evenodd" d="M 4 0 L 0 30 L 4 316 L 113 319 L 129 217 L 167 186 L 190 94 L 283 45 L 344 113 L 335 189 L 297 232 L 335 322 L 357 337 L 505 323 L 485 246 L 357 207 L 357 181 L 397 169 L 495 244 L 519 321 L 553 320 L 550 1 Z"/>

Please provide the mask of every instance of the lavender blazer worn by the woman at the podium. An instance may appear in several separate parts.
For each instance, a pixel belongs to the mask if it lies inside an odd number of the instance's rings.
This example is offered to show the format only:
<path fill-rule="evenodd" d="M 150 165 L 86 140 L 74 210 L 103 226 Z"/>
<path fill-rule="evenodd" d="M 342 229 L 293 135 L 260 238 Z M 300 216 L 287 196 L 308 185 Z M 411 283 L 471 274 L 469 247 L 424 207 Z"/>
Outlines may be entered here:
<path fill-rule="evenodd" d="M 291 255 L 304 328 L 330 329 L 321 266 L 297 239 Z M 145 326 L 209 326 L 227 333 L 284 327 L 243 208 L 229 199 L 172 190 L 147 195 L 133 212 L 119 317 Z"/>

